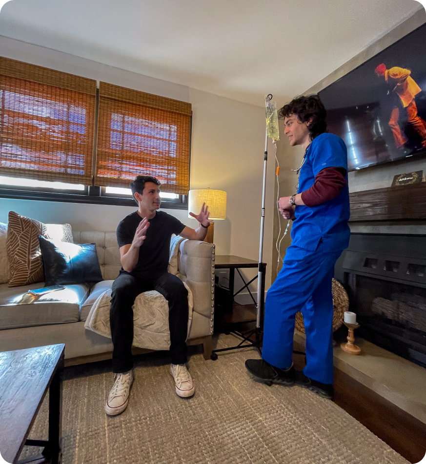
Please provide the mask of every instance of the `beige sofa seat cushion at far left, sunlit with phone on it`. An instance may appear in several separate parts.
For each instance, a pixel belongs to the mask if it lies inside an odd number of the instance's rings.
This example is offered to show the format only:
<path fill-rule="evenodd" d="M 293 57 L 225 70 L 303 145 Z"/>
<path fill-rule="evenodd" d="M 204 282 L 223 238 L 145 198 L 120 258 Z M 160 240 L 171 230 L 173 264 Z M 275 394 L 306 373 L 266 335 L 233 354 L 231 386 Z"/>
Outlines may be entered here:
<path fill-rule="evenodd" d="M 0 330 L 35 325 L 78 322 L 80 307 L 89 287 L 66 285 L 63 290 L 33 298 L 28 290 L 41 288 L 43 283 L 9 288 L 0 285 Z"/>

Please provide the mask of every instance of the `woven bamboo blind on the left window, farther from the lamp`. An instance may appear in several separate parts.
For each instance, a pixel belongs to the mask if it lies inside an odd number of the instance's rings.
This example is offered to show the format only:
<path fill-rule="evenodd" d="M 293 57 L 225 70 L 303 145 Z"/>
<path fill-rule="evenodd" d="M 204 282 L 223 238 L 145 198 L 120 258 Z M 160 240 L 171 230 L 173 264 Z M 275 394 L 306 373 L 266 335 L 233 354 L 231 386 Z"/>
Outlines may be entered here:
<path fill-rule="evenodd" d="M 0 174 L 92 182 L 96 81 L 0 57 Z"/>

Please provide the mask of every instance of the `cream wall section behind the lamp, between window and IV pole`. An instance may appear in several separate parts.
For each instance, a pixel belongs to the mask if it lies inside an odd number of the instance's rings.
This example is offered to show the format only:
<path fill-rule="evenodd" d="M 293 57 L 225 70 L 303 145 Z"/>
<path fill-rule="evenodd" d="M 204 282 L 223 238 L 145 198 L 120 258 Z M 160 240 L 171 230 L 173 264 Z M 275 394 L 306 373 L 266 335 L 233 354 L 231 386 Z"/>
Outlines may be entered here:
<path fill-rule="evenodd" d="M 227 192 L 226 221 L 215 221 L 217 253 L 259 259 L 264 166 L 264 108 L 190 89 L 193 110 L 191 188 Z M 266 204 L 273 202 L 274 161 L 267 172 Z M 266 288 L 271 281 L 272 209 L 266 209 L 264 258 Z M 194 222 L 195 220 L 191 220 Z M 193 225 L 193 226 L 194 226 Z M 236 289 L 241 280 L 236 274 Z M 257 270 L 246 269 L 251 280 Z M 247 281 L 247 280 L 246 280 Z M 256 284 L 251 286 L 256 291 Z M 251 303 L 247 297 L 239 303 Z"/>

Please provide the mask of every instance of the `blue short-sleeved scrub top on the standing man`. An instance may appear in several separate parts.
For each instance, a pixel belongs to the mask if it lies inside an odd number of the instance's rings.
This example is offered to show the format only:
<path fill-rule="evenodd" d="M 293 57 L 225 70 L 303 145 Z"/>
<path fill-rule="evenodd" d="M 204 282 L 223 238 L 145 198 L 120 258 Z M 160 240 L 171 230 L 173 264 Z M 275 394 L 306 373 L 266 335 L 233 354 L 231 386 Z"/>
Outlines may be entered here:
<path fill-rule="evenodd" d="M 312 187 L 315 176 L 326 167 L 343 167 L 347 170 L 345 142 L 334 134 L 323 133 L 317 136 L 308 146 L 305 157 L 297 193 Z M 322 239 L 321 249 L 324 252 L 344 250 L 349 245 L 349 215 L 349 189 L 346 183 L 333 200 L 311 208 L 296 206 L 291 244 L 315 251 Z"/>

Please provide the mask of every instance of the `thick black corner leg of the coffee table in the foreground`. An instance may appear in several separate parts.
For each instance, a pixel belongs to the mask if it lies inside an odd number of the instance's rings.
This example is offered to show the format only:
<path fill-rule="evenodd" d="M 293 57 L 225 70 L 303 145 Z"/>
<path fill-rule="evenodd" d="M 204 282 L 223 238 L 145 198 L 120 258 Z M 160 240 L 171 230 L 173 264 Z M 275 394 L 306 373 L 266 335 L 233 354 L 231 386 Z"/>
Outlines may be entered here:
<path fill-rule="evenodd" d="M 63 353 L 49 388 L 49 454 L 51 464 L 61 463 Z"/>

